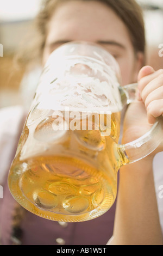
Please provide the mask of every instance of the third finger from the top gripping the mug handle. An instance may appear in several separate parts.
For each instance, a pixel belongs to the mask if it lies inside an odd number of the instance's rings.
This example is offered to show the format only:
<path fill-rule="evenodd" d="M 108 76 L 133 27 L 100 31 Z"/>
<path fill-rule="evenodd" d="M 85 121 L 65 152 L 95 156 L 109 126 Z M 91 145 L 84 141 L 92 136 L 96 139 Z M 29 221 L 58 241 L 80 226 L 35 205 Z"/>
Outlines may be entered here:
<path fill-rule="evenodd" d="M 162 86 L 163 86 L 163 75 L 160 75 L 154 78 L 151 82 L 149 82 L 147 86 L 142 90 L 142 93 L 141 93 L 143 102 L 146 101 L 149 94 L 153 93 L 154 90 L 158 88 L 160 88 L 160 93 L 162 95 Z M 155 93 L 157 93 L 157 91 Z M 155 95 L 155 97 L 157 96 Z"/>

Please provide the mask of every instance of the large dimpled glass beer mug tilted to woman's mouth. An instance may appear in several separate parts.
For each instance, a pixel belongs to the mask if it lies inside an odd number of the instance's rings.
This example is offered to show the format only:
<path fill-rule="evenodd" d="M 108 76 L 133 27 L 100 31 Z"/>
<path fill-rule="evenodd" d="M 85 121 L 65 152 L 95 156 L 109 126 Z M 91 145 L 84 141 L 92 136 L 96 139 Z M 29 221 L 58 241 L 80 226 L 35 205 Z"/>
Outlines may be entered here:
<path fill-rule="evenodd" d="M 121 111 L 135 90 L 120 80 L 116 60 L 97 45 L 71 42 L 51 54 L 8 176 L 24 208 L 53 221 L 98 217 L 115 201 L 118 169 L 158 147 L 162 120 L 118 144 Z"/>

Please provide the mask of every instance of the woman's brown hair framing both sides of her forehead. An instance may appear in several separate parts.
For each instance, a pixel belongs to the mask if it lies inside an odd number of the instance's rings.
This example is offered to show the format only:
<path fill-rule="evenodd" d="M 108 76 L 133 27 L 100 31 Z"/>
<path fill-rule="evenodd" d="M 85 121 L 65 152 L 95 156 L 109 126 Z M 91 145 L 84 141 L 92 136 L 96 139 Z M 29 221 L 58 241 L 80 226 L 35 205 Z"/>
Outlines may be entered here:
<path fill-rule="evenodd" d="M 28 47 L 28 50 L 21 53 L 26 63 L 32 59 L 40 60 L 42 57 L 43 48 L 45 46 L 47 36 L 48 21 L 54 14 L 55 8 L 60 3 L 67 2 L 68 0 L 43 0 L 40 13 L 34 21 L 34 34 L 33 42 Z M 71 1 L 71 0 L 69 0 Z M 81 0 L 73 0 L 81 1 Z M 82 0 L 92 1 L 92 0 Z M 99 1 L 99 0 L 96 0 Z M 135 0 L 100 0 L 107 4 L 112 10 L 115 11 L 118 17 L 124 22 L 128 28 L 131 42 L 134 46 L 135 52 L 145 52 L 145 26 L 143 21 L 142 9 Z M 26 40 L 27 41 L 27 40 Z M 28 40 L 29 41 L 29 40 Z M 31 42 L 31 40 L 30 40 Z"/>

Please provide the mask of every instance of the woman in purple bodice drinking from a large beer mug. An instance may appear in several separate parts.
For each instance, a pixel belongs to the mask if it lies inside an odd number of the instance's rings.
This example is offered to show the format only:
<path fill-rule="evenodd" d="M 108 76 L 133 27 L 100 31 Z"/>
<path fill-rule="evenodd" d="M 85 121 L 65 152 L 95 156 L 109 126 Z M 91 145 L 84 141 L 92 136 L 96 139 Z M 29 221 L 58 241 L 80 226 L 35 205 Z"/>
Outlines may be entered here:
<path fill-rule="evenodd" d="M 145 31 L 141 9 L 134 0 L 47 0 L 37 17 L 37 27 L 37 53 L 42 65 L 61 44 L 84 40 L 98 43 L 116 58 L 122 85 L 139 81 L 139 95 L 126 114 L 123 143 L 144 133 L 142 127 L 148 126 L 146 109 L 149 123 L 162 115 L 163 71 L 142 68 Z M 2 244 L 105 245 L 113 235 L 108 244 L 161 245 L 152 166 L 154 155 L 162 150 L 160 145 L 145 159 L 123 167 L 116 214 L 114 205 L 103 216 L 88 222 L 52 222 L 23 211 L 6 185 L 1 205 Z"/>

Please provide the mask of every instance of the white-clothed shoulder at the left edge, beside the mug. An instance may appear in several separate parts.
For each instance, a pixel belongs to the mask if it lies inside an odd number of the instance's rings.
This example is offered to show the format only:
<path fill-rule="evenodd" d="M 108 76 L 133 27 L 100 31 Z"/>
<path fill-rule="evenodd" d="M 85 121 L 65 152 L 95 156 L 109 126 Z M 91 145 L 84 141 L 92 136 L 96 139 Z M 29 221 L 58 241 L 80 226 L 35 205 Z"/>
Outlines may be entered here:
<path fill-rule="evenodd" d="M 12 106 L 0 109 L 0 184 L 14 157 L 24 121 L 24 109 Z"/>

